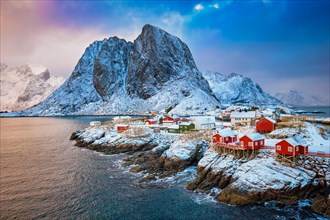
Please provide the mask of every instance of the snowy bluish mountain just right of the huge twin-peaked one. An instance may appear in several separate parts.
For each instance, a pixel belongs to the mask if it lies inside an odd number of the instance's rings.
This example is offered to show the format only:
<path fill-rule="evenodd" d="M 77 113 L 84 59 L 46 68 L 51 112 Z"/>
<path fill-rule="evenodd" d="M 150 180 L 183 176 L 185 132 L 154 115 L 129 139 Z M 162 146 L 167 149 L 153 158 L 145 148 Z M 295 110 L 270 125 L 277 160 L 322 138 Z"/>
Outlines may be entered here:
<path fill-rule="evenodd" d="M 250 78 L 240 74 L 229 75 L 205 71 L 204 78 L 208 81 L 221 105 L 279 105 L 281 102 L 264 92 Z"/>

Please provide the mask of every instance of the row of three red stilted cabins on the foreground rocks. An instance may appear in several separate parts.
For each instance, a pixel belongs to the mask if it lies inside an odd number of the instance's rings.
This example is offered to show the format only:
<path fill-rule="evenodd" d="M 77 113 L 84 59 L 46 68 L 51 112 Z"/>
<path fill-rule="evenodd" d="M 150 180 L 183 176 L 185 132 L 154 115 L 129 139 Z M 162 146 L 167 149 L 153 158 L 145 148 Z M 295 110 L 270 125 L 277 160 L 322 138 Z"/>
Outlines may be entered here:
<path fill-rule="evenodd" d="M 219 131 L 212 136 L 212 143 L 221 147 L 258 150 L 265 148 L 265 138 L 259 133 L 252 133 L 238 138 L 237 134 L 230 129 Z M 275 146 L 276 154 L 296 156 L 307 154 L 308 146 L 304 146 L 293 138 L 287 138 L 278 142 Z"/>

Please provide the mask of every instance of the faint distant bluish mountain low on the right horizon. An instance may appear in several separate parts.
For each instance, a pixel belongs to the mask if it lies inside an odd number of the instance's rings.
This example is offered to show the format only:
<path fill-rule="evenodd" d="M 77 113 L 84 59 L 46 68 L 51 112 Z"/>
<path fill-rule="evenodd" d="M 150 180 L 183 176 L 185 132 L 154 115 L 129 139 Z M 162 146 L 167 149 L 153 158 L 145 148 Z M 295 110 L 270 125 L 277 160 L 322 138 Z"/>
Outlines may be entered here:
<path fill-rule="evenodd" d="M 277 99 L 281 100 L 283 103 L 293 106 L 318 106 L 325 105 L 328 106 L 329 102 L 321 97 L 314 95 L 305 95 L 297 90 L 290 90 L 286 93 L 276 93 L 274 95 Z"/>

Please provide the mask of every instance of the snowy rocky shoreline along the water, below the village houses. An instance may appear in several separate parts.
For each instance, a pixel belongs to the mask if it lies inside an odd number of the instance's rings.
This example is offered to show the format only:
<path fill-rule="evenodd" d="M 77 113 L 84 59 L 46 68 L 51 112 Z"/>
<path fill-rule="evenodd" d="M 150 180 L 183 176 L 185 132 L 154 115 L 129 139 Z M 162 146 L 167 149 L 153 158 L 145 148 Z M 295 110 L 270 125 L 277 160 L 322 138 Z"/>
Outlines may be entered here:
<path fill-rule="evenodd" d="M 293 204 L 315 198 L 312 208 L 330 216 L 330 160 L 305 157 L 281 164 L 269 150 L 253 158 L 218 154 L 208 147 L 202 134 L 174 135 L 144 129 L 137 136 L 117 133 L 108 126 L 88 127 L 71 135 L 76 146 L 106 154 L 125 153 L 122 166 L 144 172 L 140 181 L 150 182 L 197 166 L 197 176 L 187 190 L 202 192 L 219 202 L 233 205 L 278 201 Z"/>

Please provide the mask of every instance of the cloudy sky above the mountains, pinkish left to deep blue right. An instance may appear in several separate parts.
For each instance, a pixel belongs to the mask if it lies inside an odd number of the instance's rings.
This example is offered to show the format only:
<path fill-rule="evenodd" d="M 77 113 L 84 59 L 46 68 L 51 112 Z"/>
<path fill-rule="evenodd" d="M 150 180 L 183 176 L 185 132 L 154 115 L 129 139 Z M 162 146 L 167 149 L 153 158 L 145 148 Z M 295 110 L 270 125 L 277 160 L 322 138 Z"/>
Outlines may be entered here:
<path fill-rule="evenodd" d="M 326 0 L 1 2 L 1 61 L 41 62 L 67 77 L 94 40 L 133 41 L 146 23 L 186 42 L 201 71 L 329 99 Z"/>

